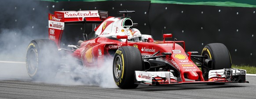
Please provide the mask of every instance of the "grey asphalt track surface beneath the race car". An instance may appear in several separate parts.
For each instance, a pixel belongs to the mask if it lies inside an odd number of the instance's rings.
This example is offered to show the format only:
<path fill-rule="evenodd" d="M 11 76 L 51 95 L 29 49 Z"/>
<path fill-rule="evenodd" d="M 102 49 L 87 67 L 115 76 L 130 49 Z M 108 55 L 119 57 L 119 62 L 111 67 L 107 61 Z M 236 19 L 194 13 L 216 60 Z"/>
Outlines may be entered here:
<path fill-rule="evenodd" d="M 62 85 L 32 81 L 23 63 L 0 62 L 0 99 L 256 99 L 256 76 L 250 83 L 143 86 L 136 89 Z"/>

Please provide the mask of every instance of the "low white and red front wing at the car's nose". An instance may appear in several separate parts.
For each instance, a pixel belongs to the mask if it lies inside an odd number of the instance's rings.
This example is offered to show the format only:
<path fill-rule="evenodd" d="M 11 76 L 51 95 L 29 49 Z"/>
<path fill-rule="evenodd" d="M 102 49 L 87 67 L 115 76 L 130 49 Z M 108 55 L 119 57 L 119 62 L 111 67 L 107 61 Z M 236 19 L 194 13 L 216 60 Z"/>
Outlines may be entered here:
<path fill-rule="evenodd" d="M 139 85 L 181 85 L 181 84 L 224 84 L 245 83 L 246 70 L 237 68 L 223 68 L 210 70 L 208 81 L 182 81 L 177 82 L 172 72 L 145 72 L 135 71 L 135 84 Z"/>

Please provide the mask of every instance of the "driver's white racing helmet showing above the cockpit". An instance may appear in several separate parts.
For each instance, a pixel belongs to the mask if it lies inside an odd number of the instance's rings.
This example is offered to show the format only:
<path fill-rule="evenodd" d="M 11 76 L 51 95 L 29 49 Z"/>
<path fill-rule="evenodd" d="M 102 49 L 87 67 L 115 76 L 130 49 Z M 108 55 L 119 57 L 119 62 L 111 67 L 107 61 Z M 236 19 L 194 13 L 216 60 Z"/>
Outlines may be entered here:
<path fill-rule="evenodd" d="M 136 28 L 131 28 L 127 31 L 128 33 L 128 41 L 142 41 L 142 35 L 140 31 Z"/>

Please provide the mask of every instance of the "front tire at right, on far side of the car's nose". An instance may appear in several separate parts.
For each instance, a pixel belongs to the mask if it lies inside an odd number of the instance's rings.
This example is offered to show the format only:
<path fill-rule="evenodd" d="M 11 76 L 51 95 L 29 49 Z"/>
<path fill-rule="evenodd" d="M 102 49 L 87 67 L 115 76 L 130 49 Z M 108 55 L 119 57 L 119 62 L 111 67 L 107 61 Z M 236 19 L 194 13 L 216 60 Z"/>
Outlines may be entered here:
<path fill-rule="evenodd" d="M 203 48 L 202 56 L 207 56 L 205 59 L 212 59 L 212 68 L 204 68 L 202 66 L 201 70 L 203 72 L 203 76 L 205 81 L 208 81 L 208 72 L 210 70 L 223 69 L 223 68 L 231 68 L 231 57 L 227 47 L 221 43 L 211 43 L 207 44 L 205 48 Z"/>

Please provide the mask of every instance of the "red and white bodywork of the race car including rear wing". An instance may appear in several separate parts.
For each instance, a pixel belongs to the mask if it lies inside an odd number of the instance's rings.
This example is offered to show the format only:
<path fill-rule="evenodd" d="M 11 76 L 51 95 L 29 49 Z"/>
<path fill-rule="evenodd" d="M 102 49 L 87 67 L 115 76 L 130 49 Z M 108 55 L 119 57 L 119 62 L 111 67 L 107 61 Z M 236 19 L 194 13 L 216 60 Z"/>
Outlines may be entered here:
<path fill-rule="evenodd" d="M 97 12 L 97 13 L 96 13 Z M 94 31 L 99 31 L 101 34 L 110 34 L 106 32 L 106 28 L 117 22 L 121 18 L 116 18 L 115 20 L 110 20 L 111 17 L 102 18 L 99 15 L 98 10 L 92 11 L 55 11 L 54 14 L 49 14 L 49 39 L 55 41 L 58 48 L 60 48 L 60 38 L 62 37 L 62 31 L 64 30 L 64 24 L 71 22 L 81 22 L 86 19 L 86 22 L 99 21 L 102 22 Z M 123 21 L 122 21 L 123 22 Z M 124 24 L 121 24 L 122 26 Z M 120 26 L 113 28 L 114 32 L 121 31 Z M 122 30 L 123 32 L 123 30 Z M 166 55 L 161 57 L 159 60 L 172 66 L 179 72 L 179 77 L 182 80 L 179 83 L 184 83 L 185 78 L 191 80 L 199 80 L 198 83 L 205 82 L 201 70 L 194 64 L 190 59 L 191 53 L 189 55 L 185 52 L 184 41 L 165 41 L 165 38 L 171 38 L 172 34 L 164 34 L 164 41 L 152 41 L 150 42 L 130 42 L 130 41 L 118 41 L 106 37 L 97 37 L 91 40 L 84 41 L 80 44 L 80 48 L 73 51 L 72 56 L 80 59 L 86 68 L 100 68 L 102 64 L 106 62 L 107 58 L 113 58 L 111 52 L 115 52 L 121 46 L 134 46 L 139 49 L 142 56 L 150 56 L 160 51 L 155 56 L 163 55 L 163 52 L 170 52 L 171 55 Z M 124 38 L 124 37 L 121 37 Z M 127 37 L 126 37 L 127 38 Z M 159 78 L 158 78 L 159 79 Z M 218 79 L 217 79 L 218 80 Z M 154 81 L 154 79 L 153 79 Z M 172 79 L 172 82 L 176 80 Z M 158 82 L 167 83 L 160 79 Z M 189 83 L 191 81 L 187 81 Z M 210 81 L 211 82 L 211 81 Z"/>

